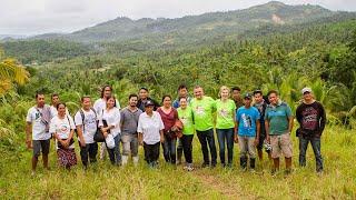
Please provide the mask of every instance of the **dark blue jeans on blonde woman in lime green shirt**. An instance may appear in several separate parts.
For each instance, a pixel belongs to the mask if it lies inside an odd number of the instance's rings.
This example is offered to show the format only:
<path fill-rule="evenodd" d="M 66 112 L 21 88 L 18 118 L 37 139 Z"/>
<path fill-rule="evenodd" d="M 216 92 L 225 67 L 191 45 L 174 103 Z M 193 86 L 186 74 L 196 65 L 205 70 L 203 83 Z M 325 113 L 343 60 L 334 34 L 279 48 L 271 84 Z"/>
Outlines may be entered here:
<path fill-rule="evenodd" d="M 227 159 L 228 163 L 233 163 L 234 156 L 234 129 L 217 129 L 217 136 L 219 141 L 220 161 L 225 164 L 225 143 L 227 146 Z"/>

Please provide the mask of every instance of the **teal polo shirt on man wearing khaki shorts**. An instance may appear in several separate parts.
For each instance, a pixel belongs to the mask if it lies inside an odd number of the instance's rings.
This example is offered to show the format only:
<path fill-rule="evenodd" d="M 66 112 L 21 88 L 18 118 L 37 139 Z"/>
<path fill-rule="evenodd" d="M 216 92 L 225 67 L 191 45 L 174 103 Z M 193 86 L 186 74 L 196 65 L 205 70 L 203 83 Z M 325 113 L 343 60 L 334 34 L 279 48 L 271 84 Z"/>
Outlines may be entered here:
<path fill-rule="evenodd" d="M 288 132 L 289 117 L 291 117 L 291 110 L 287 103 L 278 102 L 277 106 L 268 104 L 265 120 L 269 122 L 269 134 L 284 134 Z"/>

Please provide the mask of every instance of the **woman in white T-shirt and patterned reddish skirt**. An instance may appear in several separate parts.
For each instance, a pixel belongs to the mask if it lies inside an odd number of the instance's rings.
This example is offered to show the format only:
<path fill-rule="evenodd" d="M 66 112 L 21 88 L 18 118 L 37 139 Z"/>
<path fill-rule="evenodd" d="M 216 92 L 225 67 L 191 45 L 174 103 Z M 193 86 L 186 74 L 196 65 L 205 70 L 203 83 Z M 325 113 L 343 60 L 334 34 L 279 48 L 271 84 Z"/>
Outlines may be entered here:
<path fill-rule="evenodd" d="M 66 114 L 66 104 L 57 104 L 58 114 L 51 119 L 50 133 L 57 139 L 58 163 L 66 169 L 77 164 L 75 151 L 75 122 L 70 116 Z"/>

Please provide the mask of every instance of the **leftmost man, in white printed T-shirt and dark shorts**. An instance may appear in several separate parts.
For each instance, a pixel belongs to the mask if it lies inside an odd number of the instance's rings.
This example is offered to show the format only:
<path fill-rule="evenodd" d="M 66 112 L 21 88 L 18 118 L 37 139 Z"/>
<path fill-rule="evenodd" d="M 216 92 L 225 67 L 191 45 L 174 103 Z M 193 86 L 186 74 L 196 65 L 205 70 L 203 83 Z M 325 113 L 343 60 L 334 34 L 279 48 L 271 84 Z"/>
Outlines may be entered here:
<path fill-rule="evenodd" d="M 42 152 L 43 167 L 48 169 L 48 153 L 50 148 L 49 122 L 51 119 L 50 108 L 44 104 L 44 94 L 36 94 L 37 104 L 29 109 L 26 117 L 26 143 L 28 149 L 33 149 L 32 174 L 34 174 L 38 157 Z"/>

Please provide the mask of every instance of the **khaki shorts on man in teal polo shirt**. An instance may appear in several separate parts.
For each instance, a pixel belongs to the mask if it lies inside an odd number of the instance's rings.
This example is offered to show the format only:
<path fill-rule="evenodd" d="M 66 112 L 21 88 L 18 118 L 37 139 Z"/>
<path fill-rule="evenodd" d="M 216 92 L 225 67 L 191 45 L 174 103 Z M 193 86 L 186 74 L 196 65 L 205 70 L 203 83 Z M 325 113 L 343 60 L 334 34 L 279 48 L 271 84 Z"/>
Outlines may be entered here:
<path fill-rule="evenodd" d="M 271 146 L 271 158 L 279 158 L 281 153 L 285 158 L 293 157 L 293 147 L 289 133 L 269 136 Z"/>

